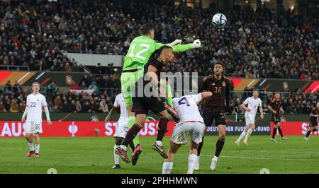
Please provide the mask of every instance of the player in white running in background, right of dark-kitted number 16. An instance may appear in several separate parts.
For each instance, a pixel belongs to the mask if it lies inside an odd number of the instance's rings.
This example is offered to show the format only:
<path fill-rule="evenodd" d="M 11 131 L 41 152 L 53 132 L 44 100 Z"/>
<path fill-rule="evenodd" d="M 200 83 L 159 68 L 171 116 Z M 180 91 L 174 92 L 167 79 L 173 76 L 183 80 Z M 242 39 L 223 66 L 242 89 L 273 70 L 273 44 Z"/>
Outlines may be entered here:
<path fill-rule="evenodd" d="M 244 102 L 242 102 L 242 109 L 244 109 L 245 112 L 245 122 L 246 122 L 246 127 L 245 130 L 242 131 L 242 134 L 240 134 L 239 138 L 237 141 L 235 141 L 236 146 L 240 146 L 240 140 L 242 140 L 244 137 L 245 139 L 242 141 L 242 143 L 245 144 L 245 146 L 248 146 L 247 140 L 248 137 L 250 137 L 250 134 L 252 134 L 252 131 L 254 130 L 255 127 L 255 120 L 254 118 L 256 117 L 257 110 L 259 107 L 260 111 L 260 118 L 264 119 L 264 114 L 262 112 L 262 100 L 258 98 L 259 92 L 257 89 L 255 89 L 252 93 L 252 97 L 247 98 Z M 246 105 L 248 105 L 246 107 Z"/>

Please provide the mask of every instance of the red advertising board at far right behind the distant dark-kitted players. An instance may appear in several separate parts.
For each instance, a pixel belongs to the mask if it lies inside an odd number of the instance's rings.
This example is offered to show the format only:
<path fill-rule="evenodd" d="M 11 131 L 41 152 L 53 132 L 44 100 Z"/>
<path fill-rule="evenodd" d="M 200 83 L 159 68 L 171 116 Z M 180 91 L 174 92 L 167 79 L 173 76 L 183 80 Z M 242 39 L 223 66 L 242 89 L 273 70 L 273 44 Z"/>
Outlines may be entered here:
<path fill-rule="evenodd" d="M 305 135 L 309 128 L 309 122 L 280 122 L 284 135 Z M 270 124 L 271 130 L 274 129 L 274 122 Z M 279 135 L 277 131 L 277 135 Z M 312 132 L 310 135 L 319 135 L 319 131 Z"/>

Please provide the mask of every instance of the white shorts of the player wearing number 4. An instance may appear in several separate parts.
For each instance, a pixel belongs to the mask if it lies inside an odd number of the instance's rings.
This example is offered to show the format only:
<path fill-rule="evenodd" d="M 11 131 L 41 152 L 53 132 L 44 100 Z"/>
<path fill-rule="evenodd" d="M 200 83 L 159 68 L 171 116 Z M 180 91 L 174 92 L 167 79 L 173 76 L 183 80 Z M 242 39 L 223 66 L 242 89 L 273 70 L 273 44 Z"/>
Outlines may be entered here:
<path fill-rule="evenodd" d="M 171 141 L 178 145 L 187 143 L 188 137 L 195 143 L 200 143 L 203 139 L 205 124 L 200 122 L 186 122 L 174 127 Z"/>

